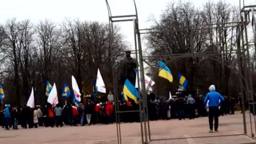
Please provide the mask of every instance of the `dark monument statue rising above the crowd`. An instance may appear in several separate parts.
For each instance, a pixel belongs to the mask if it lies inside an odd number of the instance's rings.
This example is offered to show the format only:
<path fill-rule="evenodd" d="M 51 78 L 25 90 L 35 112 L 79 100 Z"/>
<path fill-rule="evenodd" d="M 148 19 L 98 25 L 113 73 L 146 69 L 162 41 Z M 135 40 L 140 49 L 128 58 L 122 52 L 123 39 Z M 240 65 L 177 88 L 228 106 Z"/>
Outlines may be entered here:
<path fill-rule="evenodd" d="M 124 85 L 128 79 L 133 85 L 136 83 L 136 72 L 134 69 L 138 67 L 136 59 L 131 57 L 131 51 L 126 51 L 126 56 L 121 61 L 120 85 Z"/>

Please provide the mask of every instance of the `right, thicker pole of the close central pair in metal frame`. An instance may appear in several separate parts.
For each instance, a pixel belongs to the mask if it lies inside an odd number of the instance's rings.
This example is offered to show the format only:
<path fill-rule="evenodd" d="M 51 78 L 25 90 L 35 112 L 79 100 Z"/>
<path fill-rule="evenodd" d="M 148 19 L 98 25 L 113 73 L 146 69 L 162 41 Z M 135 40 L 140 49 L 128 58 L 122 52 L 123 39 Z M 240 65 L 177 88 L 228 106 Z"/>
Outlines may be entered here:
<path fill-rule="evenodd" d="M 138 47 L 139 47 L 139 66 L 140 66 L 140 72 L 141 72 L 141 82 L 145 81 L 145 77 L 144 77 L 144 67 L 143 67 L 143 57 L 142 57 L 142 48 L 141 48 L 141 36 L 139 33 L 139 24 L 138 24 L 138 19 L 136 19 L 136 31 L 137 31 L 137 37 L 138 37 Z M 141 83 L 141 93 L 142 93 L 142 105 L 143 105 L 143 116 L 144 116 L 144 132 L 145 132 L 145 144 L 148 143 L 148 139 L 147 139 L 147 125 L 145 120 L 147 119 L 147 114 L 146 114 L 146 103 L 147 103 L 147 93 L 146 93 L 146 87 L 145 87 L 145 83 Z"/>

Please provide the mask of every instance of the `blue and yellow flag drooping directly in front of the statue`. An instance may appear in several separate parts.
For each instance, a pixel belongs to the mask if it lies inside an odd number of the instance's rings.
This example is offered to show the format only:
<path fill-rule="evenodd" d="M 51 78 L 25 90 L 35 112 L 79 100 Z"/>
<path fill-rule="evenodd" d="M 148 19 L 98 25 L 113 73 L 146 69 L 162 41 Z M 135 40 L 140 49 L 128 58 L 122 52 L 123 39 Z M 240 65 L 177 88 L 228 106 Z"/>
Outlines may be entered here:
<path fill-rule="evenodd" d="M 125 101 L 128 101 L 128 97 L 133 99 L 133 101 L 137 101 L 137 98 L 139 98 L 139 92 L 128 79 L 125 80 L 125 84 L 123 85 L 123 95 Z"/>

